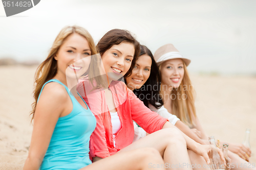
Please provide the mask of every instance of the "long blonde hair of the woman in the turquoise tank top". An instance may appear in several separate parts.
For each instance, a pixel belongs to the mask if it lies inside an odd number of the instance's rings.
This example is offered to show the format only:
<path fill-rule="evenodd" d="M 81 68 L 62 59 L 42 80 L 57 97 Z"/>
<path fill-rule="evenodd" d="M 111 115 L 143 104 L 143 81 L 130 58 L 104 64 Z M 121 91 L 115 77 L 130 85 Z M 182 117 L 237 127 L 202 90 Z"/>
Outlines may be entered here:
<path fill-rule="evenodd" d="M 51 80 L 57 74 L 57 61 L 54 59 L 54 56 L 56 56 L 60 46 L 67 39 L 67 37 L 69 37 L 71 34 L 74 34 L 74 33 L 79 34 L 79 35 L 83 36 L 84 38 L 86 38 L 89 43 L 89 46 L 91 48 L 92 55 L 97 54 L 97 50 L 96 50 L 93 38 L 86 29 L 84 29 L 82 27 L 78 27 L 78 26 L 72 26 L 72 27 L 68 26 L 68 27 L 63 28 L 59 32 L 56 39 L 54 40 L 53 45 L 50 49 L 49 55 L 47 56 L 46 60 L 44 62 L 42 62 L 36 69 L 35 88 L 33 91 L 35 102 L 32 104 L 32 111 L 31 111 L 31 114 L 33 115 L 32 119 L 34 118 L 35 108 L 36 108 L 38 96 L 39 96 L 42 86 L 47 81 Z M 90 63 L 89 69 L 88 69 L 89 70 L 88 77 L 89 78 L 95 77 L 94 79 L 96 80 L 97 85 L 100 86 L 102 80 L 100 77 L 95 76 L 95 75 L 99 75 L 99 70 L 97 68 L 98 68 L 98 61 L 96 58 L 92 58 L 92 61 Z M 90 79 L 91 84 L 92 84 L 92 81 L 93 81 L 93 79 Z"/>

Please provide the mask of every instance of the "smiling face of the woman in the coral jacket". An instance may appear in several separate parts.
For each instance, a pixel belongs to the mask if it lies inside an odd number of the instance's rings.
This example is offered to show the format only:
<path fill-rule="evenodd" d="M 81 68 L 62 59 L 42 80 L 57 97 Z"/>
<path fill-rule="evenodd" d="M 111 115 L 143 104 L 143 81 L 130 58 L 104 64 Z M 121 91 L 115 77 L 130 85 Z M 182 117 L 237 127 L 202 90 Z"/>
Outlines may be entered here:
<path fill-rule="evenodd" d="M 135 48 L 132 43 L 112 45 L 102 56 L 105 72 L 110 80 L 118 80 L 130 69 Z"/>

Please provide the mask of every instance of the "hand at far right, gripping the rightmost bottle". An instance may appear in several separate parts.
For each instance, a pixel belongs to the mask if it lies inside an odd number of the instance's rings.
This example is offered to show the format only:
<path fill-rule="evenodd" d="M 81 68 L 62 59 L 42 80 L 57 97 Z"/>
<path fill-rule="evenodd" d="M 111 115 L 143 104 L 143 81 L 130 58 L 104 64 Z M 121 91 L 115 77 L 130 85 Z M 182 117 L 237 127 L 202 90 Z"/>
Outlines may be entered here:
<path fill-rule="evenodd" d="M 235 154 L 238 154 L 246 161 L 249 161 L 249 157 L 251 157 L 250 148 L 240 143 L 228 143 L 228 150 Z"/>

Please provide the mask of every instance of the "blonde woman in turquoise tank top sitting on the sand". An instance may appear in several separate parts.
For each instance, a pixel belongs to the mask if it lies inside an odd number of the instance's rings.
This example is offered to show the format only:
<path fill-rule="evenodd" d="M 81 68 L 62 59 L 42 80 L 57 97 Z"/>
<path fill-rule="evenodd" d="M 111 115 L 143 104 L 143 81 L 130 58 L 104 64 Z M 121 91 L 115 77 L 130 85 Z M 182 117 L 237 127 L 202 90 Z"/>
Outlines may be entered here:
<path fill-rule="evenodd" d="M 99 74 L 95 54 L 94 41 L 85 29 L 65 27 L 37 68 L 31 113 L 34 128 L 24 169 L 149 169 L 148 163 L 163 164 L 152 148 L 120 153 L 92 164 L 89 140 L 96 119 L 73 86 L 86 76 L 92 78 L 89 81 L 95 88 L 101 87 L 101 79 L 94 78 Z"/>

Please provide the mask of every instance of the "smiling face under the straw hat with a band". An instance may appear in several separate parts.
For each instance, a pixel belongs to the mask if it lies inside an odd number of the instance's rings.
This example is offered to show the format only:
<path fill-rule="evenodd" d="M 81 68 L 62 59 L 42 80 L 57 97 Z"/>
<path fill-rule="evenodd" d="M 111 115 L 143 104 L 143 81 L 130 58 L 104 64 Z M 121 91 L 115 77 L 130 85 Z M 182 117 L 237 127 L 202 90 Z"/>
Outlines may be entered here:
<path fill-rule="evenodd" d="M 170 59 L 161 64 L 161 85 L 178 88 L 184 76 L 182 59 Z"/>

